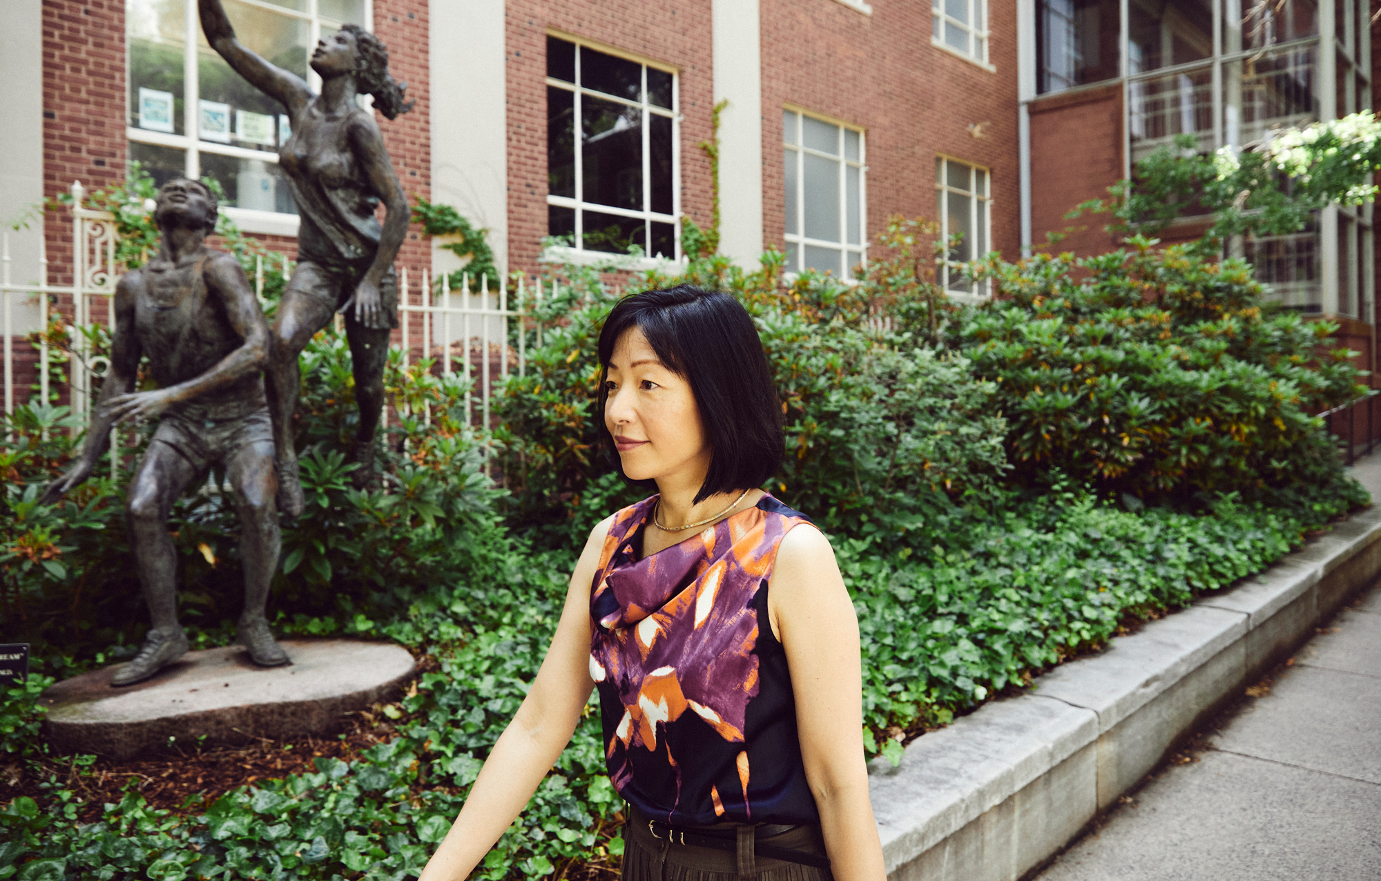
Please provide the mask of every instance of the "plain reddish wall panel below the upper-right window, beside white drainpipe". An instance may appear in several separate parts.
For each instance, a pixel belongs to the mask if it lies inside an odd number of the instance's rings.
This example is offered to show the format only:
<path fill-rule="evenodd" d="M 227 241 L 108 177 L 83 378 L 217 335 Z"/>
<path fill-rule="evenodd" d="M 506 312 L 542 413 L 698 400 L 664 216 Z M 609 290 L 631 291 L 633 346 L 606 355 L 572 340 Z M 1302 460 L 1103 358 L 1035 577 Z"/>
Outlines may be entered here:
<path fill-rule="evenodd" d="M 1116 247 L 1105 214 L 1065 220 L 1076 204 L 1106 199 L 1123 177 L 1121 86 L 1051 95 L 1030 105 L 1032 243 L 1076 229 L 1054 246 L 1081 257 Z"/>

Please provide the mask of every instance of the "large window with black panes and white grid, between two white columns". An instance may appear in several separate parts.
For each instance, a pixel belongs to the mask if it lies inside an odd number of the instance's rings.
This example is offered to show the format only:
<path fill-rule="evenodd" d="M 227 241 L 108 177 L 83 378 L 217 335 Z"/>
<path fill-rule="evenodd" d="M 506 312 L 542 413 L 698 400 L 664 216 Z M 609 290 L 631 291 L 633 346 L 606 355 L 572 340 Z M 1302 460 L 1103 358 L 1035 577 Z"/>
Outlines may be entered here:
<path fill-rule="evenodd" d="M 679 260 L 679 144 L 674 69 L 547 37 L 548 235 Z"/>

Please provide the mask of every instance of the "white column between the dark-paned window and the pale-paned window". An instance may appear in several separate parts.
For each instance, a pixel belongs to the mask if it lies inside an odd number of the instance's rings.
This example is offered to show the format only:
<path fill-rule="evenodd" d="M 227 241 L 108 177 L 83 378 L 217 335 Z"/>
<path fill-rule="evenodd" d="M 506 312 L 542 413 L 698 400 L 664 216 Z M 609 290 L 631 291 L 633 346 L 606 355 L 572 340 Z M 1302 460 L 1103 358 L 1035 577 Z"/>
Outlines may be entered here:
<path fill-rule="evenodd" d="M 758 0 L 714 0 L 720 115 L 720 251 L 757 268 L 762 254 L 762 40 Z"/>

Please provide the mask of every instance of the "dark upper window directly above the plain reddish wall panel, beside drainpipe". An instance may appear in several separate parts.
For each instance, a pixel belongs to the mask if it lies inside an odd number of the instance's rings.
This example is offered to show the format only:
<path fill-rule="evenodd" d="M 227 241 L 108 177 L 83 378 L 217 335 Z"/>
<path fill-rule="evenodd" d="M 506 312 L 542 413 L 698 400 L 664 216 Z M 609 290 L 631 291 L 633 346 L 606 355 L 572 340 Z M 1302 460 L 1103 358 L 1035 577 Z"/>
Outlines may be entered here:
<path fill-rule="evenodd" d="M 1117 0 L 1037 0 L 1037 91 L 1058 91 L 1119 75 Z"/>

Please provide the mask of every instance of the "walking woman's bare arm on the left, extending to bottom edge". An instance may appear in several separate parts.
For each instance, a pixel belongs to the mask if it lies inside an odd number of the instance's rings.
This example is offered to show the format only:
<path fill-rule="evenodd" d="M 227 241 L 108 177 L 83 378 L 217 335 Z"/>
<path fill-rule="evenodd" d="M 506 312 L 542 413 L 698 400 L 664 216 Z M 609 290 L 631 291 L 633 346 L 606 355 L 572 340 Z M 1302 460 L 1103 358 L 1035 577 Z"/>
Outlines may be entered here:
<path fill-rule="evenodd" d="M 609 521 L 595 526 L 570 576 L 557 635 L 514 719 L 485 759 L 465 806 L 418 881 L 460 881 L 514 822 L 557 762 L 594 681 L 590 678 L 590 581 Z"/>

